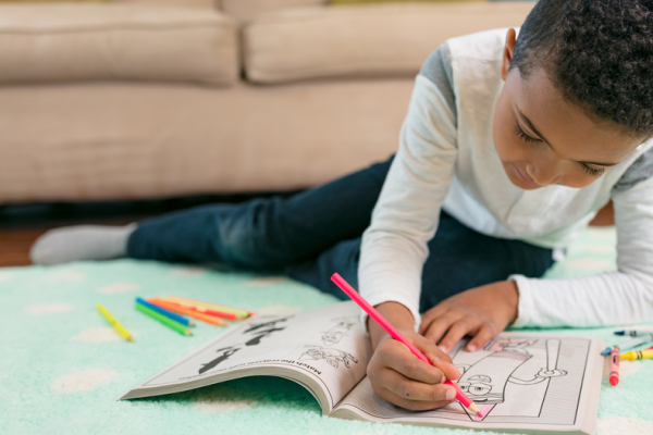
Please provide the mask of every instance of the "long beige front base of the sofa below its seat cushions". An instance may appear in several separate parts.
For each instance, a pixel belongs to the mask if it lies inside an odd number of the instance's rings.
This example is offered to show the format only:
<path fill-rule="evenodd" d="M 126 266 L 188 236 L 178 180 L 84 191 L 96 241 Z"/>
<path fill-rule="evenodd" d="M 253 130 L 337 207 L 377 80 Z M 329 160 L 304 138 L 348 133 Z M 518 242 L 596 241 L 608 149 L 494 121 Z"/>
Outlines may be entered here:
<path fill-rule="evenodd" d="M 0 204 L 316 186 L 396 150 L 411 88 L 0 87 Z"/>

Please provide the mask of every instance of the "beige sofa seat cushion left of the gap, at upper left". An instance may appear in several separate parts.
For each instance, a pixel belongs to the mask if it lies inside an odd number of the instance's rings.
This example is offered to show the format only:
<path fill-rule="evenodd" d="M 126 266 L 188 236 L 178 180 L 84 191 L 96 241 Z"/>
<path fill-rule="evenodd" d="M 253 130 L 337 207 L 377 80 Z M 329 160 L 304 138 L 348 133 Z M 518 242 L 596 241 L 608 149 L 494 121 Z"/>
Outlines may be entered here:
<path fill-rule="evenodd" d="M 237 80 L 235 22 L 141 4 L 0 5 L 0 84 Z"/>

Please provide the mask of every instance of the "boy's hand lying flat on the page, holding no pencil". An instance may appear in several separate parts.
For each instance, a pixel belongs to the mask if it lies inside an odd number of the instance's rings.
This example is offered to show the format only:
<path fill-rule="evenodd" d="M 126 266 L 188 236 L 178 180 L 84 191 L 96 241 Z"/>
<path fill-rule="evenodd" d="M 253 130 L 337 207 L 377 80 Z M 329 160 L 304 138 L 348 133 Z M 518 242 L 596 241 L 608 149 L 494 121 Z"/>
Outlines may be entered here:
<path fill-rule="evenodd" d="M 419 333 L 448 352 L 466 335 L 473 352 L 517 320 L 519 291 L 510 281 L 488 284 L 447 298 L 422 315 Z M 443 338 L 444 337 L 444 338 Z"/>

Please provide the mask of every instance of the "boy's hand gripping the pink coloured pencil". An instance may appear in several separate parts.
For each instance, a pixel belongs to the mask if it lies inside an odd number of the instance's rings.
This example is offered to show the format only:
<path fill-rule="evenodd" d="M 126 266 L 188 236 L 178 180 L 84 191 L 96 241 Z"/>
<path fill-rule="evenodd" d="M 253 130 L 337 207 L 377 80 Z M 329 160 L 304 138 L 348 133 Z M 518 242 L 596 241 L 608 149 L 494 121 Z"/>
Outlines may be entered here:
<path fill-rule="evenodd" d="M 455 401 L 456 389 L 443 384 L 447 377 L 460 377 L 449 356 L 412 328 L 397 331 L 434 366 L 418 359 L 401 341 L 386 336 L 377 346 L 367 369 L 374 394 L 411 411 L 442 408 Z"/>

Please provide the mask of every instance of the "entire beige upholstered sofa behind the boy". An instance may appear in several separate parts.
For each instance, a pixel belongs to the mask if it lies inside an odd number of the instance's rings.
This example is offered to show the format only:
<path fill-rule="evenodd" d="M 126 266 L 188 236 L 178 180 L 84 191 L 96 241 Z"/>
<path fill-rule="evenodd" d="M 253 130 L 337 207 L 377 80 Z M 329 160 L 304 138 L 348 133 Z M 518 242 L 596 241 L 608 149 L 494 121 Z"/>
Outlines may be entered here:
<path fill-rule="evenodd" d="M 0 204 L 303 188 L 385 159 L 446 38 L 532 3 L 0 3 Z"/>

